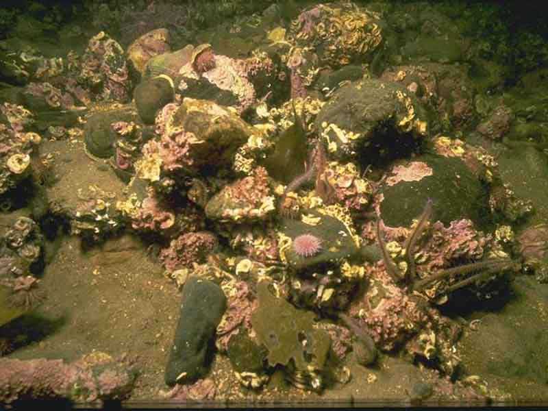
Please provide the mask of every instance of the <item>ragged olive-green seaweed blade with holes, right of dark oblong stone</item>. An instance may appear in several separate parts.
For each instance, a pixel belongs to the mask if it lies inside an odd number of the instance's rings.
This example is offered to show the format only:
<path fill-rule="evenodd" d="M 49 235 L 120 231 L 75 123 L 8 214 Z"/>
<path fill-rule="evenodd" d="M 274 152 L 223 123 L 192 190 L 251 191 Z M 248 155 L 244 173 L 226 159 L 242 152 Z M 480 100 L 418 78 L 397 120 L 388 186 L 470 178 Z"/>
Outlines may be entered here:
<path fill-rule="evenodd" d="M 258 339 L 269 350 L 271 366 L 295 361 L 297 370 L 322 369 L 331 347 L 329 334 L 314 329 L 314 313 L 297 310 L 283 298 L 275 297 L 269 282 L 257 286 L 259 307 L 251 315 Z"/>

